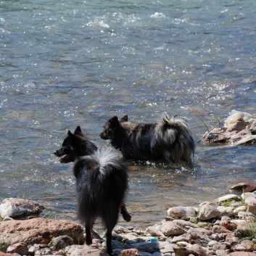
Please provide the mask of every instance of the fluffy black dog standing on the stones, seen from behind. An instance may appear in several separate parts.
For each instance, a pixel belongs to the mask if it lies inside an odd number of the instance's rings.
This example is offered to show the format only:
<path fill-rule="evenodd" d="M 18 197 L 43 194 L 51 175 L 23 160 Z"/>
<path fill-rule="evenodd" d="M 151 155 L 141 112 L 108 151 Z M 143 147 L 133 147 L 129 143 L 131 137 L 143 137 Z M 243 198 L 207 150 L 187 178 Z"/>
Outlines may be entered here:
<path fill-rule="evenodd" d="M 118 212 L 126 221 L 131 215 L 125 207 L 125 193 L 128 190 L 127 168 L 118 154 L 111 149 L 99 152 L 93 142 L 82 133 L 80 126 L 75 133 L 68 131 L 62 148 L 54 154 L 62 157 L 59 162 L 74 162 L 78 197 L 78 218 L 86 226 L 86 244 L 91 244 L 91 229 L 97 217 L 107 228 L 107 252 L 112 253 L 112 229 L 118 219 Z"/>

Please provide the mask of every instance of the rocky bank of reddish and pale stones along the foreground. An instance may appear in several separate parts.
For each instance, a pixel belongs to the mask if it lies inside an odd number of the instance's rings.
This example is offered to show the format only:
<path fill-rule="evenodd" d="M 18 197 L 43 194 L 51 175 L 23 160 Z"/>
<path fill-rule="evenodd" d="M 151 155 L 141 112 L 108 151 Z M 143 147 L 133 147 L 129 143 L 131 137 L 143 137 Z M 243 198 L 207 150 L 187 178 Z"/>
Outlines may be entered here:
<path fill-rule="evenodd" d="M 235 188 L 246 187 L 239 184 Z M 252 190 L 197 207 L 172 207 L 164 220 L 146 229 L 116 226 L 113 255 L 256 256 L 256 193 Z M 45 218 L 12 220 L 15 215 L 34 214 L 43 208 L 30 200 L 4 199 L 0 205 L 0 256 L 105 255 L 104 237 L 94 232 L 93 244 L 83 244 L 84 230 L 78 223 Z"/>

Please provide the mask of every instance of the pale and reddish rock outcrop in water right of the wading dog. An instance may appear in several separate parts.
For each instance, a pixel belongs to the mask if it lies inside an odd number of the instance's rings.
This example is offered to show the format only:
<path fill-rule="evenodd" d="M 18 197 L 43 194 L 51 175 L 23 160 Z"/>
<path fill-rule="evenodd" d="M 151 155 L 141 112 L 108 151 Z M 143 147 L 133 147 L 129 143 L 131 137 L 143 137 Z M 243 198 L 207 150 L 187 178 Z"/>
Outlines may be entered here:
<path fill-rule="evenodd" d="M 249 113 L 232 110 L 222 128 L 205 133 L 202 140 L 209 143 L 244 144 L 256 139 L 256 118 Z"/>

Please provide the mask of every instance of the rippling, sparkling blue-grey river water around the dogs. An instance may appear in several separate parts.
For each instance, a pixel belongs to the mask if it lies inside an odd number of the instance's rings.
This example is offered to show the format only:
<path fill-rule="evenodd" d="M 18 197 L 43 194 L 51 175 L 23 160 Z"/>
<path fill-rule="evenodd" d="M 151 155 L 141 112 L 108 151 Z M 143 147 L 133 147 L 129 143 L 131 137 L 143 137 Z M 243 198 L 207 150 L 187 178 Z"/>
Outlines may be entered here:
<path fill-rule="evenodd" d="M 76 220 L 72 165 L 52 154 L 80 125 L 98 146 L 112 115 L 181 115 L 195 140 L 232 109 L 255 114 L 256 2 L 0 2 L 0 199 Z M 199 143 L 194 167 L 133 162 L 131 225 L 255 182 L 255 144 Z"/>

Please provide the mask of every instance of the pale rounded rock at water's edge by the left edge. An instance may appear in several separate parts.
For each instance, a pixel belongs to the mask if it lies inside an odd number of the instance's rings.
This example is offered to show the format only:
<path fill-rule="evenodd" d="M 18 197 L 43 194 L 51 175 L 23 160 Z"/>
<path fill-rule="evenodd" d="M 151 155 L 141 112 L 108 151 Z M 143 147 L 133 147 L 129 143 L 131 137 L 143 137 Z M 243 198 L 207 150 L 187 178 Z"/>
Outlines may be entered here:
<path fill-rule="evenodd" d="M 44 206 L 38 202 L 20 198 L 6 198 L 0 205 L 1 218 L 23 218 L 42 212 Z"/>

